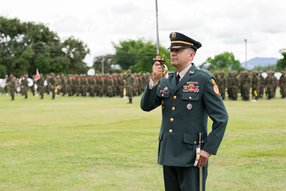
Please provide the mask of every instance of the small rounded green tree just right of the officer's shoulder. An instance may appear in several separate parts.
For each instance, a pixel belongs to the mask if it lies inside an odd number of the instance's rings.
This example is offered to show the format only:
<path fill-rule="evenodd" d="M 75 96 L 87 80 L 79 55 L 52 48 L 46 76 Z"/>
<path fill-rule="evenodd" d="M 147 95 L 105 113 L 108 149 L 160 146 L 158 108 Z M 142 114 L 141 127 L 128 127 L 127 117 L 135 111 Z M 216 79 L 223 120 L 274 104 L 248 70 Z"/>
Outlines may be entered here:
<path fill-rule="evenodd" d="M 241 70 L 242 67 L 240 65 L 239 60 L 235 60 L 233 53 L 224 52 L 222 54 L 216 55 L 214 59 L 209 57 L 206 59 L 206 62 L 200 65 L 201 68 L 208 65 L 208 70 Z"/>

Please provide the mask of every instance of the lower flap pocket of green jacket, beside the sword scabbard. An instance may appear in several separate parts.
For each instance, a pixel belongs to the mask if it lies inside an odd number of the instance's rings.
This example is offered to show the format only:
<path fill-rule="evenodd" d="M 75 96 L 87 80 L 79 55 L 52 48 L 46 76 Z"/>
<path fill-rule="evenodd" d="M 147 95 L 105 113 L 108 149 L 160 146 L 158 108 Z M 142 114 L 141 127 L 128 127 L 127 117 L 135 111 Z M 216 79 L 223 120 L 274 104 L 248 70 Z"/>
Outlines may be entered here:
<path fill-rule="evenodd" d="M 196 159 L 196 147 L 198 146 L 198 133 L 184 133 L 182 159 L 194 161 Z"/>

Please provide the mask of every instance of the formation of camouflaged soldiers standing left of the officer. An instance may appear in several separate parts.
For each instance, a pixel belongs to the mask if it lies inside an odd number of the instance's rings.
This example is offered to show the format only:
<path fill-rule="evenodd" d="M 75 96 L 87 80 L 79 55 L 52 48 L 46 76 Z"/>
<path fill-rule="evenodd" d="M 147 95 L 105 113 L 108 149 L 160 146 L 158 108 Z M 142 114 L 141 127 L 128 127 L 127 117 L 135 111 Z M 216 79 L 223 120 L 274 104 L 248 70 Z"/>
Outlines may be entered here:
<path fill-rule="evenodd" d="M 35 81 L 35 76 L 33 75 L 33 86 L 30 87 L 31 93 L 34 94 L 34 85 L 37 84 L 37 91 L 39 92 L 40 99 L 43 99 L 43 94 L 52 94 L 52 99 L 55 99 L 56 94 L 61 94 L 65 96 L 106 96 L 114 97 L 120 96 L 124 97 L 124 89 L 126 89 L 126 96 L 129 98 L 128 103 L 132 103 L 132 97 L 141 95 L 145 90 L 146 85 L 150 81 L 152 75 L 149 72 L 146 73 L 133 73 L 128 70 L 124 74 L 95 74 L 94 76 L 87 76 L 86 74 L 64 74 L 57 75 L 53 72 L 46 74 L 46 78 L 43 74 L 40 74 L 40 79 Z M 28 75 L 21 76 L 21 92 L 27 98 L 28 91 Z M 46 82 L 45 82 L 46 79 Z M 10 78 L 7 78 L 7 83 Z M 14 79 L 15 80 L 15 79 Z M 16 80 L 15 80 L 16 81 Z M 59 86 L 61 88 L 59 88 Z M 15 88 L 17 85 L 15 84 Z M 7 85 L 8 88 L 8 85 Z M 8 90 L 7 90 L 8 91 Z M 55 92 L 57 91 L 57 92 Z"/>

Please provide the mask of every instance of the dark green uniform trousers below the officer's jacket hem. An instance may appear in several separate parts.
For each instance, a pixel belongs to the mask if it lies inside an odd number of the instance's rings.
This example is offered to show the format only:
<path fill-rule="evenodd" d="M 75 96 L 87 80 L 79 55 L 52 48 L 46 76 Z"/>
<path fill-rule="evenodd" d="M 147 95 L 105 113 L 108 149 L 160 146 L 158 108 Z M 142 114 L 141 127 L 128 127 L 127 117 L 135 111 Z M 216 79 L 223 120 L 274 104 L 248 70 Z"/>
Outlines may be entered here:
<path fill-rule="evenodd" d="M 196 166 L 164 166 L 164 184 L 166 191 L 199 191 L 199 168 Z M 208 168 L 202 168 L 202 190 L 206 190 Z"/>

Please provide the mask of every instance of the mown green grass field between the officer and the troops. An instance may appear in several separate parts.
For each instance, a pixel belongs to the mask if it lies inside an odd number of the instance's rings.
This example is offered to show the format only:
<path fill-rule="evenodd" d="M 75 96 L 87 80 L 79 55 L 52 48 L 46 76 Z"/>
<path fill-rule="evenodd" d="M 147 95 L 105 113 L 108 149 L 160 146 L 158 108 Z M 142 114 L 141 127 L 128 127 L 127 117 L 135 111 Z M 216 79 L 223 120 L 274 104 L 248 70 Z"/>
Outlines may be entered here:
<path fill-rule="evenodd" d="M 229 122 L 206 190 L 286 190 L 286 100 L 276 95 L 225 101 Z M 141 97 L 50 98 L 0 96 L 1 191 L 164 190 L 160 107 L 142 111 Z"/>

